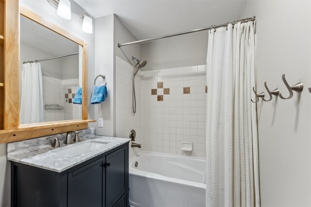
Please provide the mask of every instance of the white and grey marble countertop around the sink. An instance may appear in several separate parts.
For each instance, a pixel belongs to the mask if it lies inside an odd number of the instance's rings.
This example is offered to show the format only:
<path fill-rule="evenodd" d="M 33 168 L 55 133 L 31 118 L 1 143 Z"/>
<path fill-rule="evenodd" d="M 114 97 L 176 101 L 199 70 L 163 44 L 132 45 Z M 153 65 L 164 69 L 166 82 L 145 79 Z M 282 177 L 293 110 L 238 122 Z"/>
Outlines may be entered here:
<path fill-rule="evenodd" d="M 57 153 L 57 151 L 59 151 L 60 149 L 63 150 L 66 147 L 69 148 L 71 146 L 74 145 L 76 146 L 90 141 L 109 142 L 109 143 L 104 144 L 100 148 L 90 149 L 85 153 L 81 153 L 75 156 L 62 155 Z M 100 155 L 110 149 L 113 149 L 129 141 L 130 139 L 126 138 L 93 136 L 86 141 L 80 143 L 73 143 L 69 145 L 63 145 L 58 148 L 46 147 L 43 149 L 27 152 L 16 156 L 8 155 L 7 159 L 60 173 L 77 164 L 80 164 L 88 159 L 94 158 L 97 155 Z"/>

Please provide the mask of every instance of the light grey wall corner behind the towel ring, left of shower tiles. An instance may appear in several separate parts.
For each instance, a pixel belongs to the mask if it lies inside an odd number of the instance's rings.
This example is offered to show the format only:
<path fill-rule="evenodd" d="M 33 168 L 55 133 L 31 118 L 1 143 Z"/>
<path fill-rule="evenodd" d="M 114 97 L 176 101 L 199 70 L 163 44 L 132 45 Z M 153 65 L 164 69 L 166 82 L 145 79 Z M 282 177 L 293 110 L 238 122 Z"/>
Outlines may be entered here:
<path fill-rule="evenodd" d="M 95 128 L 96 135 L 116 136 L 116 57 L 119 56 L 130 64 L 133 63 L 131 56 L 140 58 L 139 45 L 118 48 L 117 44 L 136 40 L 117 16 L 112 14 L 96 19 L 95 75 L 106 75 L 108 89 L 108 98 L 95 106 L 95 119 L 104 118 L 104 127 Z M 103 80 L 97 82 L 103 83 Z"/>

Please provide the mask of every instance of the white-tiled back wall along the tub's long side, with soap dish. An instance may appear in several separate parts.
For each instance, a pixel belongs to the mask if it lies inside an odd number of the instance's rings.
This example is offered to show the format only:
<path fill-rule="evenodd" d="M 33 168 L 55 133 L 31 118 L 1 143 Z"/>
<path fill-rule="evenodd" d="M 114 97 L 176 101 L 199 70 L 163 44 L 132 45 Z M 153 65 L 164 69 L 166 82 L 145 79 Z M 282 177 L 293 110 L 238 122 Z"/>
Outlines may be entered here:
<path fill-rule="evenodd" d="M 141 74 L 143 150 L 206 157 L 206 66 L 142 71 Z M 163 82 L 169 94 L 157 88 L 158 82 Z M 157 89 L 156 96 L 152 95 L 152 89 Z M 157 98 L 162 95 L 163 101 Z M 192 142 L 192 152 L 181 150 L 183 141 Z"/>

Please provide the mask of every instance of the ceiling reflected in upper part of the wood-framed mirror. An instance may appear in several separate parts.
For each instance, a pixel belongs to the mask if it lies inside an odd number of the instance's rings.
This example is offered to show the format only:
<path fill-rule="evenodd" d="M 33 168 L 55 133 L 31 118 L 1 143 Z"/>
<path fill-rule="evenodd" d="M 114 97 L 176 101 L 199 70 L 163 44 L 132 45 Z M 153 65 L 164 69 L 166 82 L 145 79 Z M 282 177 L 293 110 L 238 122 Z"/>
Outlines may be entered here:
<path fill-rule="evenodd" d="M 79 52 L 77 43 L 24 16 L 20 17 L 20 42 L 55 56 Z"/>

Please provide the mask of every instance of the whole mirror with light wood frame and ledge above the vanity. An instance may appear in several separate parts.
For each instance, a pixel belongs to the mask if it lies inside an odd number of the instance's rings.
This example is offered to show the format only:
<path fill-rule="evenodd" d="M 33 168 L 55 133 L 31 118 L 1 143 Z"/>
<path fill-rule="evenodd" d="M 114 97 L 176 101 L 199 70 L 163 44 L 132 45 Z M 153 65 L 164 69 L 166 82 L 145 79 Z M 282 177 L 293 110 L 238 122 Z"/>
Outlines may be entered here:
<path fill-rule="evenodd" d="M 0 143 L 17 142 L 17 141 L 32 139 L 32 138 L 41 137 L 41 136 L 63 133 L 69 130 L 79 130 L 79 129 L 87 128 L 87 123 L 95 122 L 95 120 L 88 120 L 88 112 L 87 112 L 87 105 L 88 105 L 88 100 L 87 100 L 87 50 L 88 48 L 87 48 L 87 44 L 80 38 L 58 27 L 52 22 L 47 21 L 43 17 L 35 14 L 34 12 L 32 12 L 31 10 L 27 8 L 20 6 L 19 13 L 15 17 L 14 16 L 10 17 L 13 19 L 13 21 L 15 21 L 15 25 L 11 27 L 7 25 L 6 32 L 5 32 L 5 33 L 11 32 L 10 34 L 12 34 L 13 32 L 14 34 L 16 34 L 15 37 L 18 37 L 18 38 L 12 38 L 11 40 L 10 39 L 6 40 L 4 38 L 4 42 L 6 43 L 5 48 L 8 48 L 8 50 L 5 49 L 4 51 L 5 53 L 6 52 L 7 53 L 4 55 L 5 56 L 4 58 L 5 59 L 4 60 L 4 118 L 3 118 L 3 130 L 0 130 Z M 19 27 L 19 23 L 20 23 L 20 27 Z M 22 23 L 27 24 L 26 27 L 25 25 L 21 25 Z M 29 46 L 30 45 L 29 43 L 34 43 L 35 40 L 39 39 L 39 36 L 36 37 L 34 33 L 31 33 L 33 31 L 30 31 L 29 34 L 23 31 L 23 33 L 21 33 L 20 35 L 25 35 L 25 36 L 22 36 L 22 37 L 19 36 L 19 33 L 22 32 L 19 30 L 22 30 L 22 29 L 25 30 L 25 28 L 27 27 L 29 27 L 30 30 L 38 30 L 38 34 L 41 36 L 44 36 L 42 35 L 42 33 L 45 33 L 45 32 L 46 32 L 45 36 L 49 36 L 50 34 L 51 42 L 52 40 L 58 41 L 60 42 L 59 45 L 64 44 L 66 45 L 66 48 L 62 49 L 62 48 L 57 47 L 57 45 L 55 47 L 52 47 L 53 43 L 49 43 L 47 44 L 48 49 L 40 48 L 42 49 L 42 51 L 37 50 L 34 52 L 33 51 L 35 50 L 34 48 L 38 48 L 38 47 L 35 47 L 36 44 L 40 45 L 40 41 L 38 41 L 38 43 L 32 44 L 31 46 Z M 16 41 L 17 39 L 18 39 L 18 45 L 16 46 L 14 44 L 17 42 Z M 21 40 L 21 42 L 19 42 L 19 39 Z M 29 43 L 27 41 L 29 41 Z M 25 45 L 27 47 L 25 47 Z M 46 45 L 46 44 L 41 43 L 41 45 Z M 9 50 L 10 46 L 12 48 L 11 50 Z M 47 51 L 47 50 L 51 50 L 49 47 L 55 48 L 55 51 Z M 25 48 L 27 48 L 26 52 L 24 51 Z M 41 104 L 40 107 L 44 107 L 43 112 L 49 118 L 42 119 L 43 114 L 40 114 L 39 116 L 42 115 L 41 118 L 34 119 L 35 120 L 34 121 L 32 118 L 31 119 L 24 118 L 24 115 L 22 114 L 22 111 L 24 109 L 21 109 L 21 108 L 23 108 L 25 104 L 28 102 L 25 102 L 25 100 L 23 100 L 25 99 L 25 96 L 27 96 L 25 95 L 25 92 L 23 91 L 24 93 L 21 93 L 21 90 L 23 90 L 23 88 L 21 87 L 24 87 L 24 88 L 26 87 L 25 87 L 24 82 L 21 83 L 22 82 L 21 80 L 23 78 L 25 80 L 25 74 L 21 72 L 22 69 L 20 68 L 24 68 L 23 64 L 25 63 L 23 62 L 27 62 L 26 64 L 28 64 L 28 66 L 31 64 L 37 64 L 39 61 L 36 61 L 36 60 L 41 59 L 41 58 L 29 56 L 29 53 L 41 55 L 45 52 L 44 50 L 46 52 L 50 52 L 51 54 L 53 54 L 53 56 L 56 56 L 56 57 L 66 56 L 68 52 L 70 55 L 66 57 L 76 56 L 77 58 L 72 58 L 75 61 L 75 63 L 73 64 L 75 65 L 76 71 L 74 71 L 74 74 L 71 73 L 67 75 L 64 75 L 64 72 L 63 72 L 63 76 L 67 76 L 67 78 L 65 78 L 66 81 L 63 81 L 61 78 L 58 78 L 58 77 L 44 76 L 45 74 L 48 74 L 48 73 L 53 73 L 53 76 L 61 74 L 62 71 L 58 72 L 57 74 L 56 68 L 59 68 L 58 66 L 55 66 L 55 65 L 48 66 L 47 64 L 44 66 L 45 68 L 49 68 L 49 67 L 55 68 L 55 70 L 53 71 L 53 69 L 52 70 L 50 69 L 50 72 L 49 72 L 48 69 L 46 69 L 45 72 L 42 72 L 41 80 L 40 80 L 41 81 L 41 88 L 40 88 L 41 93 L 44 96 L 45 93 L 50 93 L 52 91 L 53 97 L 57 95 L 57 98 L 54 98 L 52 101 L 52 97 L 48 97 L 47 100 L 44 100 L 44 97 L 41 97 L 42 99 L 39 99 L 39 100 L 44 102 L 44 104 L 43 105 Z M 23 54 L 20 53 L 23 51 L 24 51 Z M 61 52 L 65 52 L 66 54 L 62 55 L 60 54 Z M 47 56 L 45 57 L 46 58 L 42 58 L 42 59 L 51 58 Z M 14 60 L 13 64 L 12 64 L 12 60 Z M 63 64 L 66 64 L 66 63 L 63 63 Z M 23 66 L 21 67 L 21 65 Z M 66 67 L 69 67 L 68 63 Z M 40 71 L 41 71 L 41 66 L 40 66 Z M 29 77 L 29 74 L 26 77 Z M 71 77 L 71 78 L 68 78 L 68 77 Z M 52 87 L 49 87 L 51 85 L 48 84 L 48 88 L 46 88 L 45 84 L 42 84 L 43 81 L 50 81 L 50 80 L 55 81 L 53 84 L 55 85 L 56 87 L 55 90 L 57 90 L 58 93 L 53 91 L 54 89 Z M 39 81 L 39 85 L 40 85 L 40 81 Z M 20 82 L 19 87 L 16 86 L 18 82 Z M 64 84 L 59 84 L 63 82 L 66 82 L 66 84 L 68 82 L 71 82 L 71 86 L 67 87 L 68 86 L 67 84 L 67 86 L 65 87 Z M 76 107 L 72 105 L 72 99 L 75 96 L 74 93 L 75 93 L 75 90 L 78 88 L 78 86 L 79 87 L 81 86 L 81 91 L 82 91 L 81 107 Z M 36 88 L 35 88 L 35 91 L 36 91 Z M 66 91 L 70 93 L 66 93 Z M 28 92 L 28 94 L 29 93 L 30 92 Z M 30 98 L 28 97 L 28 99 Z M 33 99 L 37 99 L 37 97 Z M 53 107 L 57 109 L 57 112 L 60 112 L 61 110 L 64 109 L 66 104 L 69 107 L 71 107 L 70 110 L 73 111 L 73 113 L 76 115 L 71 115 L 70 113 L 68 113 L 69 115 L 67 117 L 64 117 L 63 115 L 63 118 L 62 118 L 61 116 L 55 117 L 52 113 L 49 114 L 50 113 L 49 110 L 51 110 Z M 34 110 L 36 109 L 36 107 L 33 107 L 33 108 Z M 74 111 L 73 108 L 75 108 L 75 110 L 78 109 L 79 111 L 78 112 Z M 26 113 L 28 111 L 29 110 L 26 110 Z M 38 113 L 38 111 L 35 111 L 35 113 Z"/>

